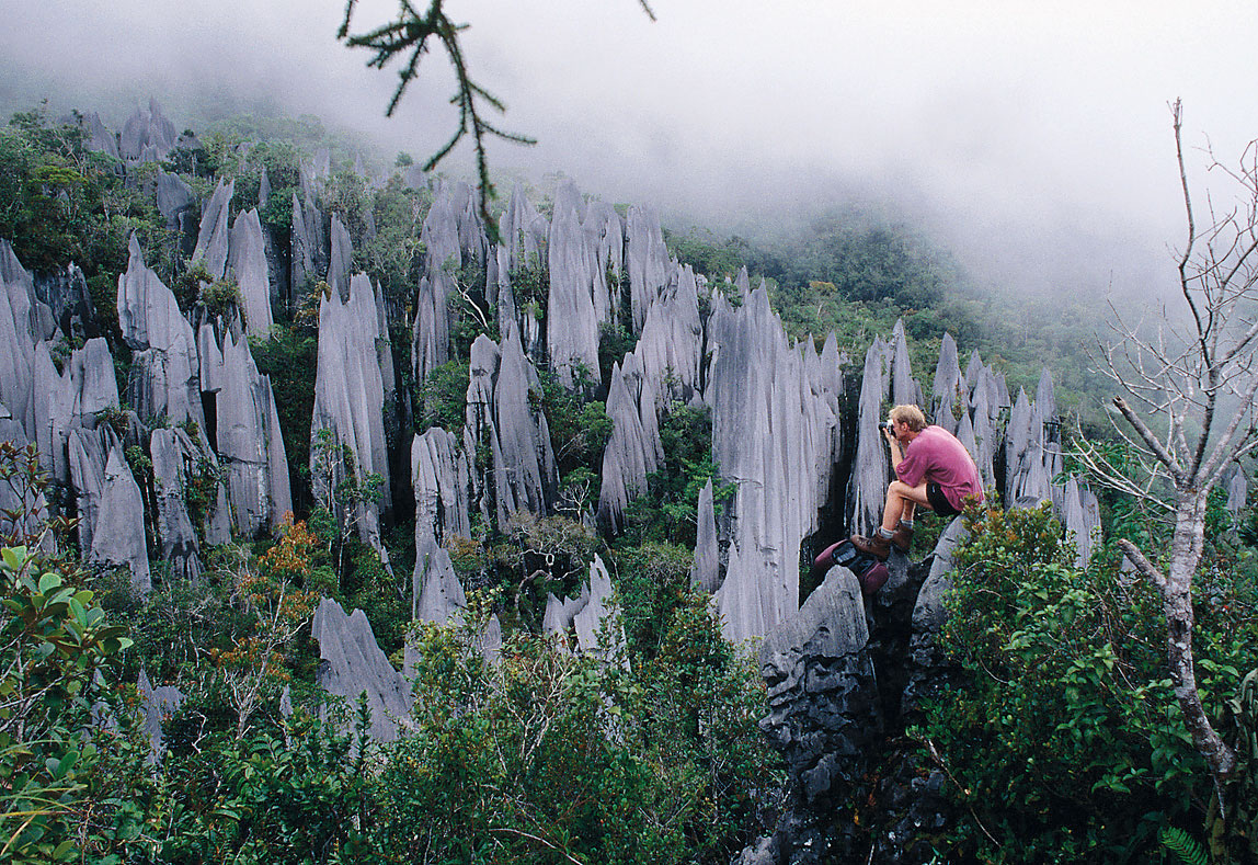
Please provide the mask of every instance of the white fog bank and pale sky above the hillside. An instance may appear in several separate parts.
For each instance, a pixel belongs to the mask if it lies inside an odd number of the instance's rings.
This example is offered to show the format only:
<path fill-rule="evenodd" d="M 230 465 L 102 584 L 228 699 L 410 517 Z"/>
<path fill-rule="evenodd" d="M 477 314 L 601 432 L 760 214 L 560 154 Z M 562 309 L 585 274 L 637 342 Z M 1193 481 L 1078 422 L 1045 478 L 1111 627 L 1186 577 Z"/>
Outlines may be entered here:
<path fill-rule="evenodd" d="M 364 0 L 357 30 L 392 0 Z M 853 201 L 917 227 L 982 285 L 1147 296 L 1172 282 L 1185 139 L 1258 137 L 1252 3 L 448 0 L 473 77 L 507 103 L 491 166 L 562 171 L 677 225 L 769 235 Z M 452 132 L 444 57 L 395 117 L 391 71 L 335 40 L 342 0 L 0 0 L 0 105 L 155 96 L 182 128 L 309 112 L 423 157 Z M 1205 156 L 1189 154 L 1195 183 Z M 468 170 L 467 152 L 445 166 Z M 1204 189 L 1204 186 L 1203 186 Z M 1224 201 L 1222 186 L 1215 194 Z M 1204 196 L 1203 196 L 1204 198 Z"/>

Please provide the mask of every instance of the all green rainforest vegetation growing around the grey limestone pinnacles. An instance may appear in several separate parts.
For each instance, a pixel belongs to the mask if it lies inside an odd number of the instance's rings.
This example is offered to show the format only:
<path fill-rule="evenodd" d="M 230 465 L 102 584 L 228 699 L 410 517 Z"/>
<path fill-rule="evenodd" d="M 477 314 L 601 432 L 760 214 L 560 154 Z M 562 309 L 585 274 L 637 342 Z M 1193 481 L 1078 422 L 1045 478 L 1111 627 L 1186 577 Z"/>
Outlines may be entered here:
<path fill-rule="evenodd" d="M 82 268 L 94 319 L 62 354 L 104 335 L 126 393 L 131 354 L 116 286 L 132 232 L 181 307 L 235 300 L 229 286 L 199 288 L 189 277 L 189 251 L 153 203 L 156 164 L 123 172 L 87 150 L 77 120 L 35 110 L 0 130 L 0 238 L 29 269 Z M 317 150 L 331 165 L 322 201 L 348 228 L 353 267 L 380 285 L 396 331 L 400 434 L 457 428 L 469 346 L 498 334 L 473 314 L 486 305 L 476 288 L 484 274 L 459 274 L 470 288 L 452 301 L 462 311 L 453 359 L 414 380 L 409 321 L 431 194 L 405 181 L 410 157 L 375 155 L 311 117 L 237 117 L 185 132 L 162 167 L 203 198 L 234 178 L 233 208 L 244 209 L 259 203 L 265 166 L 272 204 L 260 218 L 284 235 L 302 165 Z M 371 180 L 352 167 L 356 157 Z M 1066 428 L 1078 421 L 1079 434 L 1122 448 L 1097 422 L 1107 390 L 1084 353 L 1103 317 L 1093 301 L 980 292 L 911 227 L 839 209 L 790 242 L 696 228 L 665 240 L 712 283 L 742 267 L 754 285 L 766 280 L 790 335 L 820 341 L 835 331 L 853 369 L 897 319 L 921 380 L 945 332 L 962 365 L 979 351 L 1014 392 L 1033 388 L 1048 365 Z M 545 292 L 542 268 L 523 276 Z M 473 525 L 450 544 L 465 616 L 414 625 L 414 502 L 405 494 L 392 502 L 386 567 L 311 492 L 317 342 L 308 303 L 253 341 L 284 432 L 294 514 L 270 536 L 210 549 L 195 583 L 155 564 L 153 589 L 138 596 L 127 574 L 82 562 L 60 519 L 73 515 L 35 452 L 0 444 L 0 482 L 31 512 L 47 501 L 54 515 L 38 525 L 14 515 L 19 528 L 0 560 L 0 860 L 726 862 L 770 831 L 784 771 L 757 728 L 765 686 L 754 647 L 722 638 L 689 580 L 699 490 L 716 478 L 717 505 L 728 497 L 707 409 L 671 407 L 663 465 L 609 538 L 581 519 L 611 432 L 605 394 L 593 376 L 562 387 L 541 370 L 536 400 L 565 506 L 509 528 Z M 606 330 L 600 360 L 610 368 L 626 348 L 626 334 Z M 141 489 L 152 485 L 143 458 L 137 449 L 131 462 Z M 347 496 L 376 495 L 370 477 L 359 480 Z M 216 482 L 206 473 L 190 485 L 191 512 L 204 512 Z M 1242 757 L 1223 791 L 1224 834 L 1220 791 L 1170 693 L 1157 594 L 1112 545 L 1128 538 L 1165 549 L 1164 514 L 1120 494 L 1101 497 L 1110 543 L 1087 563 L 1076 563 L 1072 539 L 1045 510 L 966 516 L 944 636 L 961 672 L 898 732 L 950 781 L 942 794 L 957 820 L 935 841 L 938 861 L 1254 861 L 1258 698 L 1248 674 L 1258 667 L 1258 515 L 1211 502 L 1195 582 L 1203 698 Z M 540 623 L 547 594 L 575 594 L 595 554 L 611 572 L 623 631 L 605 628 L 599 651 L 582 655 L 541 636 Z M 399 669 L 410 653 L 421 696 L 398 742 L 367 735 L 364 704 L 328 704 L 318 693 L 309 621 L 321 597 L 362 609 Z M 494 613 L 504 631 L 496 664 L 477 642 Z M 160 755 L 138 711 L 141 675 L 186 695 L 157 719 Z"/>

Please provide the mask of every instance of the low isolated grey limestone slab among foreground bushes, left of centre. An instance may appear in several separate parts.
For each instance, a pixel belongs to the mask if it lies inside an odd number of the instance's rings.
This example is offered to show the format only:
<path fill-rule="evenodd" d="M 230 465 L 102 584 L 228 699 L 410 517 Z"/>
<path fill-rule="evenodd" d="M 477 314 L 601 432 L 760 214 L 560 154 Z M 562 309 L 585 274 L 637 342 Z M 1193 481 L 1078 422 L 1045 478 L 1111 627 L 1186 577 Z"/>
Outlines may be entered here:
<path fill-rule="evenodd" d="M 320 650 L 318 686 L 350 705 L 366 694 L 371 737 L 377 742 L 396 739 L 399 724 L 410 718 L 410 685 L 380 651 L 362 611 L 346 616 L 341 604 L 325 598 L 314 611 L 311 637 Z"/>

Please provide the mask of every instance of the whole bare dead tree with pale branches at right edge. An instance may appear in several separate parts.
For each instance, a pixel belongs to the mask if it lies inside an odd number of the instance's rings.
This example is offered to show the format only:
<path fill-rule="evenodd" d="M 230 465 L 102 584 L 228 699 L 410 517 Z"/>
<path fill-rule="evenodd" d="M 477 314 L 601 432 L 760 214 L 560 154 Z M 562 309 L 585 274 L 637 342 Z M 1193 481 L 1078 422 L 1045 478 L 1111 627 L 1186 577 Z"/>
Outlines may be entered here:
<path fill-rule="evenodd" d="M 1224 470 L 1258 447 L 1258 141 L 1238 167 L 1209 155 L 1210 170 L 1234 184 L 1235 205 L 1215 210 L 1208 199 L 1208 227 L 1198 225 L 1189 193 L 1181 139 L 1183 110 L 1171 108 L 1175 152 L 1188 218 L 1188 238 L 1177 254 L 1183 322 L 1166 319 L 1155 332 L 1137 330 L 1115 312 L 1115 341 L 1105 349 L 1103 371 L 1123 397 L 1116 423 L 1135 448 L 1136 478 L 1086 443 L 1082 457 L 1103 483 L 1160 506 L 1171 523 L 1164 569 L 1135 544 L 1118 541 L 1140 574 L 1161 592 L 1166 655 L 1175 695 L 1196 750 L 1214 776 L 1219 802 L 1235 754 L 1201 706 L 1193 662 L 1193 575 L 1205 541 L 1205 509 Z M 1209 151 L 1208 151 L 1209 152 Z"/>

